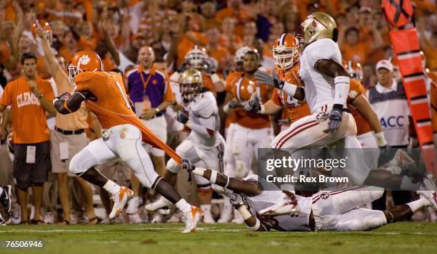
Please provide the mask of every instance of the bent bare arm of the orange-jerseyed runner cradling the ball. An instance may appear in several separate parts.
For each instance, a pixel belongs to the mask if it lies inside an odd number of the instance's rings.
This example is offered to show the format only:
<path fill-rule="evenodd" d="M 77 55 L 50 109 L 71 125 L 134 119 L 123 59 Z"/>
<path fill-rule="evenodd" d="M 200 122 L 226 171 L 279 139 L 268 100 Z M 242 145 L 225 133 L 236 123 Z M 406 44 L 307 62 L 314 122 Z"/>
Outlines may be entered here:
<path fill-rule="evenodd" d="M 89 95 L 87 91 L 74 92 L 72 95 L 69 92 L 64 92 L 62 95 L 55 97 L 53 105 L 59 113 L 67 115 L 76 112 L 81 107 L 81 103 L 86 100 Z"/>

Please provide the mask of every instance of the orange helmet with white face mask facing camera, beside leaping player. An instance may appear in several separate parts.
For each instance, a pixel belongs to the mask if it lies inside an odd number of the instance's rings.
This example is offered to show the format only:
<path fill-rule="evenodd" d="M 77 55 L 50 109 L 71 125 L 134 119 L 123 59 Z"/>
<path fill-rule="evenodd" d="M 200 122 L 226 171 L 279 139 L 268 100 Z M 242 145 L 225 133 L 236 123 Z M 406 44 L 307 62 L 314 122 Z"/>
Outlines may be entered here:
<path fill-rule="evenodd" d="M 298 40 L 290 33 L 283 33 L 273 44 L 275 67 L 280 70 L 291 68 L 298 62 Z"/>

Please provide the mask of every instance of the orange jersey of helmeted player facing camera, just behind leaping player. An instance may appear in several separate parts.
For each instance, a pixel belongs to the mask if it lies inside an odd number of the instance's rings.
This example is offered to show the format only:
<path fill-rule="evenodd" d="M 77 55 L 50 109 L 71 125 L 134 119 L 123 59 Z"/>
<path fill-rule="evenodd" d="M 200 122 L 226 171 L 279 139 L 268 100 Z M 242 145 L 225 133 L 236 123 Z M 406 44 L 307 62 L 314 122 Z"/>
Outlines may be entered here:
<path fill-rule="evenodd" d="M 298 78 L 298 70 L 299 64 L 296 64 L 288 70 L 287 72 L 283 72 L 281 70 L 275 70 L 279 75 L 281 80 L 284 80 L 293 85 L 297 85 L 298 87 L 302 87 L 299 78 Z M 309 110 L 308 104 L 305 101 L 297 100 L 294 97 L 291 97 L 286 92 L 282 90 L 274 89 L 273 94 L 271 95 L 271 100 L 275 102 L 276 105 L 282 106 L 288 119 L 291 122 L 296 122 L 297 120 L 310 115 L 311 112 Z"/>

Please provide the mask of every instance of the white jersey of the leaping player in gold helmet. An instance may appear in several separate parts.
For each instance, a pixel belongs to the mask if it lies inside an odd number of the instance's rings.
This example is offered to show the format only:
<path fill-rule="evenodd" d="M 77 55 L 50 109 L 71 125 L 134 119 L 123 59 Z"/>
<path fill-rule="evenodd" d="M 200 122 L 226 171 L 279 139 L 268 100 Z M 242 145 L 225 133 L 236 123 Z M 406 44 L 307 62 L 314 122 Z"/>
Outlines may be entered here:
<path fill-rule="evenodd" d="M 336 42 L 327 38 L 314 41 L 306 46 L 301 55 L 299 77 L 305 83 L 305 97 L 311 114 L 334 100 L 333 78 L 314 68 L 322 59 L 333 59 L 341 64 L 341 52 Z"/>

